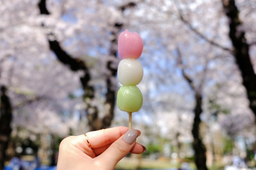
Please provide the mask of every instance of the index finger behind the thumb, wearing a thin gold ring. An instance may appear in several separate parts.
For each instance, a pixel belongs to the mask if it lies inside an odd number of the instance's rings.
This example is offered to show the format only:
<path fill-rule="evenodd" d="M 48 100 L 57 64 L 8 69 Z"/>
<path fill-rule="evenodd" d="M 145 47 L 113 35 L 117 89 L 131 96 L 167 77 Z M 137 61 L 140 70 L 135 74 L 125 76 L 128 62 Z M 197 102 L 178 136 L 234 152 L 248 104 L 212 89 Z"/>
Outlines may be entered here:
<path fill-rule="evenodd" d="M 90 142 L 92 148 L 99 148 L 108 144 L 112 144 L 119 137 L 128 131 L 128 127 L 119 126 L 108 129 L 101 129 L 86 133 L 87 140 Z M 140 135 L 140 131 L 137 130 Z"/>

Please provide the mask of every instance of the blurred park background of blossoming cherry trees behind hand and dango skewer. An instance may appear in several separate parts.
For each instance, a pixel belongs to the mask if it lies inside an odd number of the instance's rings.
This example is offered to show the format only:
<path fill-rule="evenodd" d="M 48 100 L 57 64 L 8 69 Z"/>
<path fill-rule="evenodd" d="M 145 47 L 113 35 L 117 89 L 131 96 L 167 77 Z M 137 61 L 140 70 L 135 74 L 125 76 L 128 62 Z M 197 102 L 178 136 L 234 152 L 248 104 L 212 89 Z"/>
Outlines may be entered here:
<path fill-rule="evenodd" d="M 119 34 L 143 39 L 137 142 L 116 169 L 253 169 L 255 0 L 1 0 L 0 170 L 54 169 L 60 141 L 128 126 Z"/>

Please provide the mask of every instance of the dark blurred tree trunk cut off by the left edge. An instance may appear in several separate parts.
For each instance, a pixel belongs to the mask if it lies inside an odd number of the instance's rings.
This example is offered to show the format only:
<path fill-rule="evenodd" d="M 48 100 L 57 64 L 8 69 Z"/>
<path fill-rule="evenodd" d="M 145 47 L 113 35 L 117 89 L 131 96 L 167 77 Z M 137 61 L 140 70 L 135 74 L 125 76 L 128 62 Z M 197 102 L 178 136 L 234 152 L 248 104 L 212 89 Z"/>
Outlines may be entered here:
<path fill-rule="evenodd" d="M 0 95 L 0 170 L 4 170 L 5 151 L 8 148 L 12 132 L 12 105 L 9 97 L 6 95 L 6 87 L 1 87 Z"/>

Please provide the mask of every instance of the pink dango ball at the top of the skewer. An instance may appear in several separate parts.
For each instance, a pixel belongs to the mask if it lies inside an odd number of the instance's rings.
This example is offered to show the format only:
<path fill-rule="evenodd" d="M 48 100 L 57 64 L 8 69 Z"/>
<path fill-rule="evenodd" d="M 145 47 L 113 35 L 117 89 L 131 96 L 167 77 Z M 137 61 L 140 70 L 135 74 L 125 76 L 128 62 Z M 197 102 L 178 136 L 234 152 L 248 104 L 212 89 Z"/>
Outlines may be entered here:
<path fill-rule="evenodd" d="M 138 59 L 143 50 L 143 41 L 138 33 L 131 33 L 127 29 L 118 38 L 118 54 L 124 58 Z"/>

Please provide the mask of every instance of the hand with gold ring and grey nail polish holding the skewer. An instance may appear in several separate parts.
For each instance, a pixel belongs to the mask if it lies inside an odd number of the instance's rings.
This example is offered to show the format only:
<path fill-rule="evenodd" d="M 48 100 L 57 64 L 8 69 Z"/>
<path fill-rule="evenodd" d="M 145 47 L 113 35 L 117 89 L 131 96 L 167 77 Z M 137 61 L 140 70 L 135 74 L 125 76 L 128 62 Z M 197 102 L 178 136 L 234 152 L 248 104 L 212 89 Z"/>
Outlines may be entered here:
<path fill-rule="evenodd" d="M 129 152 L 146 151 L 143 145 L 136 143 L 140 133 L 127 127 L 115 127 L 88 132 L 87 140 L 85 135 L 67 137 L 60 143 L 57 170 L 114 169 Z"/>

